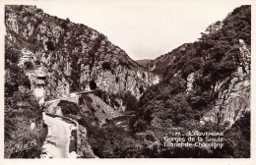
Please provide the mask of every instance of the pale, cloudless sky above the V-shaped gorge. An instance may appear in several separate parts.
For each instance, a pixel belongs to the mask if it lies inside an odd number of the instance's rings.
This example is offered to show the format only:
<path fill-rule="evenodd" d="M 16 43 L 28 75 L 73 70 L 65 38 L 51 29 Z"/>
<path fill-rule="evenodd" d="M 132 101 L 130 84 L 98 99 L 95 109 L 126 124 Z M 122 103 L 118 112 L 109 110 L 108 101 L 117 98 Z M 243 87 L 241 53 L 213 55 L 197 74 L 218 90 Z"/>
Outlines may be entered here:
<path fill-rule="evenodd" d="M 132 59 L 155 59 L 194 42 L 241 0 L 37 0 L 45 13 L 93 27 Z M 248 3 L 247 3 L 248 4 Z"/>

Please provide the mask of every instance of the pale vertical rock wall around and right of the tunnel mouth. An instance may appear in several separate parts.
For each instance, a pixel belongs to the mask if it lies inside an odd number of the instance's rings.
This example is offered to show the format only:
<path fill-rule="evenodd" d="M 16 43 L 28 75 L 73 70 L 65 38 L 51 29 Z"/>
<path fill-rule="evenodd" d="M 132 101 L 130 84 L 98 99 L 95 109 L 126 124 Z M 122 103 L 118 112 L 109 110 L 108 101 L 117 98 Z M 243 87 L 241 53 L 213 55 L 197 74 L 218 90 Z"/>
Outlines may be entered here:
<path fill-rule="evenodd" d="M 80 83 L 83 89 L 88 89 L 90 81 L 95 81 L 96 86 L 106 92 L 119 94 L 131 91 L 137 99 L 143 94 L 148 86 L 159 83 L 158 77 L 152 77 L 145 71 L 127 70 L 127 68 L 118 66 L 114 71 L 103 70 L 101 67 L 89 71 L 89 66 L 83 67 Z"/>

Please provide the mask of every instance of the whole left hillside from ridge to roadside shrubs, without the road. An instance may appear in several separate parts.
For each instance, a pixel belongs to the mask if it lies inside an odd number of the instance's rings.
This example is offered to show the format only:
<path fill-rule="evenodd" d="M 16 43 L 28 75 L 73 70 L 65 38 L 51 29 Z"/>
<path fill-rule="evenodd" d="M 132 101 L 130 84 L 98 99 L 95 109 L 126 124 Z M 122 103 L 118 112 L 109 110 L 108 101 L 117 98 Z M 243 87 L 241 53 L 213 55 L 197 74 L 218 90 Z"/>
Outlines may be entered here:
<path fill-rule="evenodd" d="M 80 105 L 62 101 L 53 108 L 74 117 L 82 107 L 78 120 L 101 125 L 128 107 L 124 96 L 137 101 L 159 81 L 102 33 L 35 6 L 6 5 L 5 27 L 6 158 L 40 157 L 45 101 L 96 90 L 101 97 L 91 94 Z"/>

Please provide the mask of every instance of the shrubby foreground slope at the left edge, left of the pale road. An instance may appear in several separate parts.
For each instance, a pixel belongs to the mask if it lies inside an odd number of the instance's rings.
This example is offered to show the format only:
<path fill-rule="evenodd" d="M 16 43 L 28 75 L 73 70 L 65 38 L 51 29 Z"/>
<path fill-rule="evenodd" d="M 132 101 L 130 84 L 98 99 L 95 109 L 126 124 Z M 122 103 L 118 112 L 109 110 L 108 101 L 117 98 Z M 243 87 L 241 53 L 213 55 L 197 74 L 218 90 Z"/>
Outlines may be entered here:
<path fill-rule="evenodd" d="M 19 50 L 5 47 L 5 158 L 38 158 L 46 130 L 42 113 L 32 95 L 31 83 L 17 64 Z M 35 128 L 31 129 L 31 123 Z"/>

